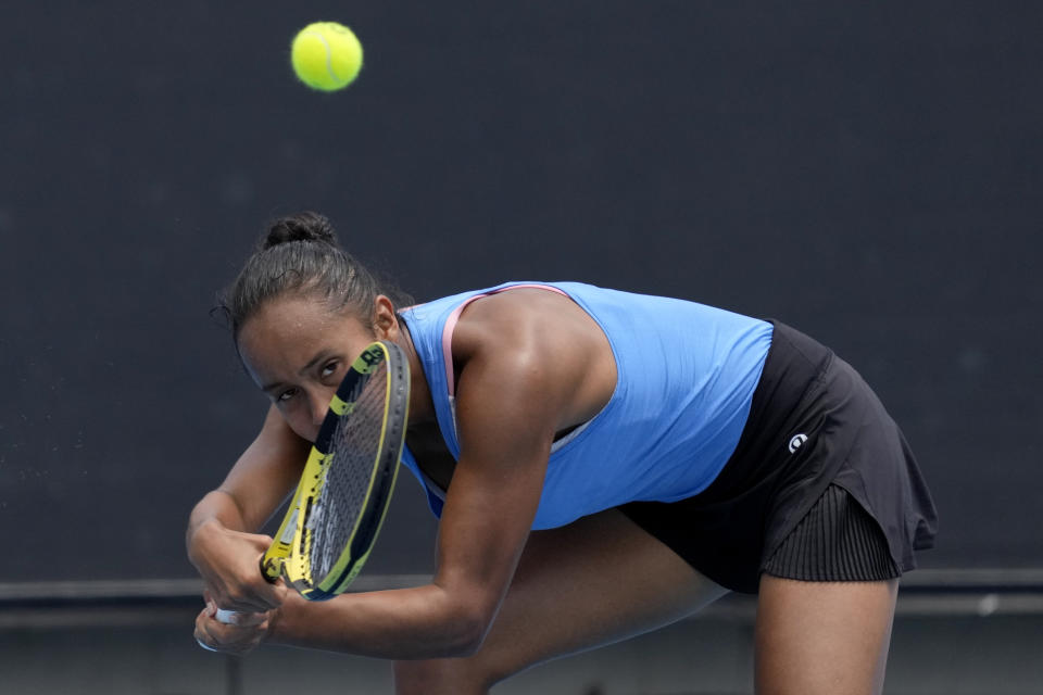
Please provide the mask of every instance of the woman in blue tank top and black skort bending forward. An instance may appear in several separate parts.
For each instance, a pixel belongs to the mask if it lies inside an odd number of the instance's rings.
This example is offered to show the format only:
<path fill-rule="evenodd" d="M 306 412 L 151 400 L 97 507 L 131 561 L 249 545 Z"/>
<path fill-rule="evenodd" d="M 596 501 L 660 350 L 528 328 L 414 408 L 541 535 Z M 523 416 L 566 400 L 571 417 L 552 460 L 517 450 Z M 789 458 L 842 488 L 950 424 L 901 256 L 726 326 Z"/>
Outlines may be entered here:
<path fill-rule="evenodd" d="M 399 693 L 485 693 L 555 656 L 758 594 L 758 693 L 879 693 L 897 578 L 934 509 L 857 374 L 781 324 L 578 283 L 399 311 L 328 222 L 274 223 L 228 292 L 260 434 L 192 511 L 196 636 L 395 659 Z M 430 584 L 310 604 L 257 571 L 347 365 L 398 343 Z M 237 624 L 217 607 L 251 611 Z"/>

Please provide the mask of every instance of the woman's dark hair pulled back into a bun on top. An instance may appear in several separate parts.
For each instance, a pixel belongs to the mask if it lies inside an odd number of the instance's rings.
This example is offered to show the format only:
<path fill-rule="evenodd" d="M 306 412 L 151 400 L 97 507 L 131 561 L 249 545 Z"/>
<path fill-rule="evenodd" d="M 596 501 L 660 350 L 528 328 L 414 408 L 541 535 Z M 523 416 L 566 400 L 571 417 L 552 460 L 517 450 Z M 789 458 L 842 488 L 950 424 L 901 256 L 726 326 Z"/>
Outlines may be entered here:
<path fill-rule="evenodd" d="M 388 295 L 395 304 L 411 302 L 397 289 L 385 288 L 344 251 L 330 222 L 313 212 L 268 224 L 235 282 L 218 298 L 216 311 L 238 340 L 247 319 L 265 302 L 286 293 L 316 296 L 331 311 L 350 306 L 367 326 L 378 294 Z"/>

